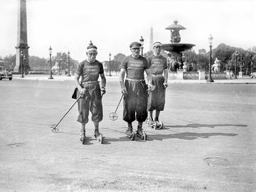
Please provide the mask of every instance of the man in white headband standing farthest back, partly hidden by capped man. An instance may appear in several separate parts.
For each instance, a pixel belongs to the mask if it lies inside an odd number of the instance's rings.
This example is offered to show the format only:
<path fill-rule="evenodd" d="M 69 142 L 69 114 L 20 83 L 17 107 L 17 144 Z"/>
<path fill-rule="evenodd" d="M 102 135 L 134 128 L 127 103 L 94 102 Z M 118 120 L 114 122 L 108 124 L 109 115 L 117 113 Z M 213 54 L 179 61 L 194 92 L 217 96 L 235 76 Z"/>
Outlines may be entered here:
<path fill-rule="evenodd" d="M 153 55 L 149 56 L 149 70 L 152 73 L 152 85 L 155 85 L 155 89 L 149 93 L 149 124 L 155 121 L 156 125 L 159 125 L 160 111 L 164 110 L 165 104 L 165 89 L 168 86 L 168 69 L 167 60 L 161 55 L 160 42 L 153 44 Z M 153 119 L 153 111 L 156 110 L 156 116 Z M 162 124 L 162 123 L 161 123 Z M 162 127 L 160 127 L 162 128 Z"/>

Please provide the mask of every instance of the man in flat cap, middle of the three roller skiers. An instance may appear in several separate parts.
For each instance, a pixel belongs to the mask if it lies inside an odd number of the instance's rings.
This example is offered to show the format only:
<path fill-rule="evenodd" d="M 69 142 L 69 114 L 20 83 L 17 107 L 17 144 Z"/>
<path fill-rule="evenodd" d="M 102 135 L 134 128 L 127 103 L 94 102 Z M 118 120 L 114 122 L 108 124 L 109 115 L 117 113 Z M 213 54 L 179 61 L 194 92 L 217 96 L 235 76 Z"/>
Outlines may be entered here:
<path fill-rule="evenodd" d="M 139 137 L 146 139 L 144 132 L 142 132 L 142 124 L 147 117 L 147 88 L 151 89 L 151 73 L 146 58 L 139 55 L 141 46 L 138 42 L 130 44 L 129 48 L 132 55 L 124 58 L 121 64 L 119 82 L 122 94 L 124 94 L 123 119 L 128 124 L 126 134 L 128 137 L 133 137 L 132 122 L 136 119 L 138 121 L 137 134 Z M 149 80 L 149 85 L 146 85 L 144 80 L 144 71 Z"/>

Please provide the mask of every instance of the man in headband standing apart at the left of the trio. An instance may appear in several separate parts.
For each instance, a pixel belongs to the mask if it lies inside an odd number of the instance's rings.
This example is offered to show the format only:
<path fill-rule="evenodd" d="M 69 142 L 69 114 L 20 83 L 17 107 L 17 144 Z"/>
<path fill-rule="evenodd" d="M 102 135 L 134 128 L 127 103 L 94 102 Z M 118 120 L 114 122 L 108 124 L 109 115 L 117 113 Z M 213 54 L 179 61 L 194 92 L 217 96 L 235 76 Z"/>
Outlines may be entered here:
<path fill-rule="evenodd" d="M 103 65 L 96 60 L 97 47 L 90 45 L 87 47 L 87 59 L 78 65 L 75 73 L 75 85 L 82 97 L 78 101 L 78 122 L 82 124 L 81 142 L 85 142 L 85 124 L 88 122 L 89 110 L 92 113 L 92 122 L 95 125 L 95 137 L 102 142 L 102 134 L 99 132 L 99 122 L 102 121 L 102 95 L 106 86 Z M 101 78 L 101 87 L 98 78 Z M 81 77 L 81 82 L 79 79 Z"/>

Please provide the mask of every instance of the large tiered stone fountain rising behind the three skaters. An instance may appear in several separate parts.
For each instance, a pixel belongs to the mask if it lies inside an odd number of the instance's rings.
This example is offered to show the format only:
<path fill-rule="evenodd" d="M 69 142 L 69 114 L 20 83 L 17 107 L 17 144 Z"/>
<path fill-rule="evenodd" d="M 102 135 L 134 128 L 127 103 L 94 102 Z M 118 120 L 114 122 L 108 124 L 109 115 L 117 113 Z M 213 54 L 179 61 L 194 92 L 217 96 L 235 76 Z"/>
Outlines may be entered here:
<path fill-rule="evenodd" d="M 166 27 L 167 30 L 171 31 L 171 43 L 163 44 L 163 49 L 167 51 L 168 60 L 171 70 L 186 70 L 186 66 L 183 66 L 183 51 L 189 50 L 195 46 L 189 43 L 180 43 L 181 35 L 179 31 L 186 29 L 185 27 L 178 24 L 178 21 L 174 21 L 173 24 Z"/>

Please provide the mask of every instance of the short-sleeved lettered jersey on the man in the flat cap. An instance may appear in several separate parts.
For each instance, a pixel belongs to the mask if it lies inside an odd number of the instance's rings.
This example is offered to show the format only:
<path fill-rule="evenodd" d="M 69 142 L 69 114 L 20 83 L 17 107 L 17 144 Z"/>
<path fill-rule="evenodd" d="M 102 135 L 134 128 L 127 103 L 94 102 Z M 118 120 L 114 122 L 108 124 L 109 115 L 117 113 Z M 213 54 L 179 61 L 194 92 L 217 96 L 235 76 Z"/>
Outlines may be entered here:
<path fill-rule="evenodd" d="M 144 70 L 149 68 L 149 63 L 141 55 L 139 55 L 139 58 L 133 58 L 132 55 L 129 55 L 124 58 L 121 68 L 126 70 L 127 78 L 144 80 Z"/>

